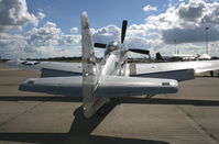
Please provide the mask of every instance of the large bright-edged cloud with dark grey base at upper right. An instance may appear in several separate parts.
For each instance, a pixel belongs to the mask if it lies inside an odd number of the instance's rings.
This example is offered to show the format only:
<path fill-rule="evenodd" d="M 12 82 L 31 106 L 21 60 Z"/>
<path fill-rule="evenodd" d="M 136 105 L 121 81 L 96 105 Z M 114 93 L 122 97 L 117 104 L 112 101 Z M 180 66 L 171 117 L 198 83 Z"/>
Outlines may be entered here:
<path fill-rule="evenodd" d="M 190 0 L 178 8 L 171 7 L 165 13 L 146 19 L 147 25 L 163 34 L 165 43 L 205 42 L 206 26 L 210 27 L 209 41 L 219 40 L 219 3 Z"/>

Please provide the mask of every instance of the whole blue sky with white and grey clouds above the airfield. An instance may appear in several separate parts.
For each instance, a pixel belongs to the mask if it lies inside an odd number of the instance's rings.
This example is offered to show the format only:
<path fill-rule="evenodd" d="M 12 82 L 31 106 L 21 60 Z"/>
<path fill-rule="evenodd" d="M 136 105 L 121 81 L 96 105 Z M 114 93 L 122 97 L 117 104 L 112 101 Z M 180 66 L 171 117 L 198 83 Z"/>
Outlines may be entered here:
<path fill-rule="evenodd" d="M 219 0 L 0 0 L 0 57 L 80 56 L 80 13 L 87 11 L 94 42 L 125 45 L 171 56 L 219 56 Z M 209 27 L 206 30 L 206 27 Z M 102 49 L 96 48 L 101 57 Z M 130 56 L 142 56 L 130 54 Z"/>

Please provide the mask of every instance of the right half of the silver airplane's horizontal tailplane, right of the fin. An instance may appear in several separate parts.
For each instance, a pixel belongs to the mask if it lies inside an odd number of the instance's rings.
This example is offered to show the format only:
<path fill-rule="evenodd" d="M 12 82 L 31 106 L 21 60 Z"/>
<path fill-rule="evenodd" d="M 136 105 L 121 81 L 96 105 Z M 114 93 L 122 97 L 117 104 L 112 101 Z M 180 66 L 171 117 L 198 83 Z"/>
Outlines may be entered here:
<path fill-rule="evenodd" d="M 174 79 L 105 76 L 96 91 L 97 97 L 130 97 L 177 92 Z"/>

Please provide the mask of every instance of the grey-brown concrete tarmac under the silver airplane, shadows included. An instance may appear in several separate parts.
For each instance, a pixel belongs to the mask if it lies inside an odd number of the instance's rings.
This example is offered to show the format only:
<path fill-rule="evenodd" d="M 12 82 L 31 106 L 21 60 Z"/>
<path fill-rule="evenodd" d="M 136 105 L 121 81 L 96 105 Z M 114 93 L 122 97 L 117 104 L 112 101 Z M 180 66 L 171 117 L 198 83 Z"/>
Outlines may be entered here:
<path fill-rule="evenodd" d="M 81 98 L 23 92 L 39 71 L 0 64 L 0 144 L 218 144 L 219 77 L 180 82 L 175 95 L 121 98 L 85 119 Z"/>

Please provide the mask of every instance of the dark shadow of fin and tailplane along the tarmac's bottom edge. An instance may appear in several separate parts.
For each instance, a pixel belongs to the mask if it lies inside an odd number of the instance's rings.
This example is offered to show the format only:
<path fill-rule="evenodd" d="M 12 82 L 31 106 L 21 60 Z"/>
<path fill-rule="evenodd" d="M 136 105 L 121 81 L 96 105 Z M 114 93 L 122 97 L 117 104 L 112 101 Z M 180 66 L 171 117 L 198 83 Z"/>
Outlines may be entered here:
<path fill-rule="evenodd" d="M 43 144 L 168 144 L 164 141 L 90 135 L 106 115 L 85 119 L 83 107 L 77 108 L 74 115 L 75 120 L 68 133 L 0 133 L 0 141 Z"/>

